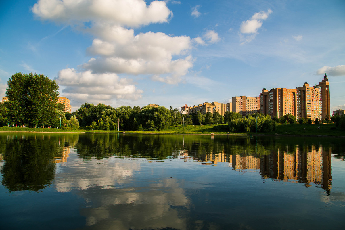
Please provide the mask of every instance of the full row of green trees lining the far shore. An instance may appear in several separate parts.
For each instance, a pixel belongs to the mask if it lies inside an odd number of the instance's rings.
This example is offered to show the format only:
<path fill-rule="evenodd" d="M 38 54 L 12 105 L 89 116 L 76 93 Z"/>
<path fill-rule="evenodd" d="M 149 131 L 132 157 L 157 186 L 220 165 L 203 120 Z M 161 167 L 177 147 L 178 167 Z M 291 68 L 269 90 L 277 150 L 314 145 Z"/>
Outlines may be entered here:
<path fill-rule="evenodd" d="M 92 130 L 136 130 L 155 131 L 169 126 L 181 124 L 227 124 L 230 131 L 253 131 L 258 122 L 258 131 L 267 132 L 276 128 L 277 123 L 297 123 L 296 117 L 287 114 L 272 119 L 262 113 L 249 114 L 242 117 L 240 113 L 226 111 L 224 116 L 218 111 L 214 113 L 201 111 L 181 114 L 178 109 L 165 107 L 121 106 L 113 108 L 103 103 L 94 105 L 85 102 L 73 112 L 64 112 L 65 105 L 56 103 L 59 97 L 59 86 L 43 74 L 15 73 L 8 80 L 6 96 L 8 102 L 0 103 L 0 126 L 15 124 L 28 127 L 62 126 L 78 129 L 79 125 Z M 255 120 L 255 126 L 254 126 Z M 333 122 L 337 127 L 345 129 L 345 117 L 326 117 L 319 122 Z M 311 119 L 299 118 L 298 123 L 312 123 Z"/>

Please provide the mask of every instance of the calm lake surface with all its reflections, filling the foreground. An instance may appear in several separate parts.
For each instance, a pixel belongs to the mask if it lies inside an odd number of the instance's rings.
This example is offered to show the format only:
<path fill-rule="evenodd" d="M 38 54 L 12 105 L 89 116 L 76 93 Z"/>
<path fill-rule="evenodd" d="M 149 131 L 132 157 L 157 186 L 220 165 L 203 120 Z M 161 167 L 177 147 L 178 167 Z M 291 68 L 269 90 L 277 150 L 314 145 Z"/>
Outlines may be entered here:
<path fill-rule="evenodd" d="M 342 138 L 0 133 L 1 229 L 344 229 Z"/>

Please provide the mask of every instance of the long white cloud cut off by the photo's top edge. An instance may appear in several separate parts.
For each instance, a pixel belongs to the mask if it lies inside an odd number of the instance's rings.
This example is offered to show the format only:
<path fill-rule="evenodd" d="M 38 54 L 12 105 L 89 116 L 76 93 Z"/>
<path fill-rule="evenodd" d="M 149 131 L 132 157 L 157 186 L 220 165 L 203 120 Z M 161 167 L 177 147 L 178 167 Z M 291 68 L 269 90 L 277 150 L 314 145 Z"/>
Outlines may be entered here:
<path fill-rule="evenodd" d="M 42 20 L 71 26 L 82 26 L 91 21 L 129 27 L 167 22 L 172 13 L 164 1 L 153 1 L 147 6 L 143 0 L 39 0 L 32 7 L 32 12 Z"/>

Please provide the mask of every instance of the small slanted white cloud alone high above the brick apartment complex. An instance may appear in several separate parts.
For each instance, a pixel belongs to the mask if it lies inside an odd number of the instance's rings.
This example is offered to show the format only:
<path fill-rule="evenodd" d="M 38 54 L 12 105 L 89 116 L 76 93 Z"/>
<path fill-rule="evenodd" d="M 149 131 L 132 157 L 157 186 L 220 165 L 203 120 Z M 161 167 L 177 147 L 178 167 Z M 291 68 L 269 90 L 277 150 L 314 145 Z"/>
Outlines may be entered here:
<path fill-rule="evenodd" d="M 268 18 L 268 15 L 272 13 L 272 10 L 268 9 L 267 12 L 261 11 L 255 13 L 250 20 L 242 21 L 242 24 L 240 26 L 240 38 L 242 44 L 246 42 L 252 41 L 255 36 L 258 34 L 258 29 L 262 26 L 263 20 L 266 20 Z M 244 36 L 243 34 L 248 34 L 247 36 Z"/>

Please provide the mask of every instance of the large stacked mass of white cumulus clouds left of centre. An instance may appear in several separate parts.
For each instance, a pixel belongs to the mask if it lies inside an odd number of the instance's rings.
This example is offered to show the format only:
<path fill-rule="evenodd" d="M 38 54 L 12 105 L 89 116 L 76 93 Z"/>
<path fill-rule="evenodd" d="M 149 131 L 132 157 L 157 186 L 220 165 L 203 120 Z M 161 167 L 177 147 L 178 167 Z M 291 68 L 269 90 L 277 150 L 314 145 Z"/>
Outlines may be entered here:
<path fill-rule="evenodd" d="M 161 32 L 135 35 L 137 27 L 171 19 L 172 12 L 165 1 L 147 5 L 144 0 L 39 0 L 32 12 L 41 20 L 68 25 L 95 37 L 87 48 L 92 58 L 80 65 L 80 72 L 75 69 L 59 72 L 57 81 L 66 86 L 65 95 L 137 100 L 142 91 L 117 74 L 149 74 L 154 76 L 153 80 L 176 84 L 193 67 L 190 37 Z M 71 85 L 69 81 L 78 84 Z"/>

